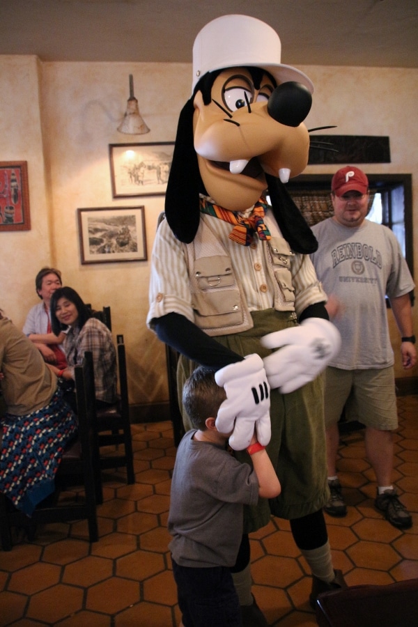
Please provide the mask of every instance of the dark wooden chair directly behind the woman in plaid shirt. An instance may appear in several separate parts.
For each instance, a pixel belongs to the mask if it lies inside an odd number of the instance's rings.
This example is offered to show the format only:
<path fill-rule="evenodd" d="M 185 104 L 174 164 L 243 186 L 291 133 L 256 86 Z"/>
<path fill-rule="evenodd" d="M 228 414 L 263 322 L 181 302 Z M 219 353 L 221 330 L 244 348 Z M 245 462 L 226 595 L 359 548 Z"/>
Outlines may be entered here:
<path fill-rule="evenodd" d="M 118 379 L 121 394 L 117 403 L 114 403 L 109 408 L 97 410 L 96 428 L 99 448 L 111 445 L 118 447 L 119 444 L 123 444 L 124 451 L 120 453 L 116 449 L 116 454 L 100 454 L 99 464 L 102 470 L 126 467 L 127 483 L 134 483 L 134 455 L 132 452 L 132 434 L 129 417 L 125 344 L 123 343 L 123 335 L 118 335 L 116 339 Z"/>

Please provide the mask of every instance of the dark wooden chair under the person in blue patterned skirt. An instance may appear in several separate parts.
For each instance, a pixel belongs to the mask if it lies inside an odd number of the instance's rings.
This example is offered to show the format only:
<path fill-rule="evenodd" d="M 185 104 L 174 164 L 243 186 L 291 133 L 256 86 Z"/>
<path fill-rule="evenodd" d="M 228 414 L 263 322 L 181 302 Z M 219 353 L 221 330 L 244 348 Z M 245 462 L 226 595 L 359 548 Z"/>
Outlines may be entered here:
<path fill-rule="evenodd" d="M 5 495 L 0 494 L 0 536 L 3 550 L 12 549 L 11 527 L 24 527 L 29 540 L 33 539 L 38 524 L 88 520 L 90 542 L 98 541 L 96 503 L 102 502 L 102 484 L 98 472 L 98 445 L 94 430 L 95 396 L 93 355 L 86 353 L 82 365 L 75 366 L 79 433 L 77 440 L 65 450 L 56 473 L 55 498 L 48 497 L 28 518 L 13 508 Z M 92 394 L 93 392 L 93 394 Z M 68 483 L 84 486 L 84 501 L 59 502 L 59 486 Z"/>

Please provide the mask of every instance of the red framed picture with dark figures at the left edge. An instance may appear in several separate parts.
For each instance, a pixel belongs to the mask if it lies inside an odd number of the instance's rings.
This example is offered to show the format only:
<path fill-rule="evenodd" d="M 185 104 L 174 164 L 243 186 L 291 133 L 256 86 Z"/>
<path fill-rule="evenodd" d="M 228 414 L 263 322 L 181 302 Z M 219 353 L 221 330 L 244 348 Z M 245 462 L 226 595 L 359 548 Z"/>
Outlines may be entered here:
<path fill-rule="evenodd" d="M 28 164 L 0 161 L 0 231 L 30 231 Z"/>

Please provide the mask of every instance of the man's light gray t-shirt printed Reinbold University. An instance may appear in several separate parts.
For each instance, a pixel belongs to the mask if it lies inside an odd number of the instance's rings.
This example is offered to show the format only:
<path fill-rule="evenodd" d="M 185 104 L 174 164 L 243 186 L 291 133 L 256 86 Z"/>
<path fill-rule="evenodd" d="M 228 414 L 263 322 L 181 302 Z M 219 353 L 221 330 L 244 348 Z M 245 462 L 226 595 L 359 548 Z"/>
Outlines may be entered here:
<path fill-rule="evenodd" d="M 341 350 L 328 364 L 343 370 L 382 369 L 394 364 L 385 295 L 389 300 L 414 288 L 394 233 L 364 220 L 350 228 L 327 218 L 312 227 L 318 250 L 311 254 L 318 279 L 335 295 L 343 313 L 332 319 Z"/>

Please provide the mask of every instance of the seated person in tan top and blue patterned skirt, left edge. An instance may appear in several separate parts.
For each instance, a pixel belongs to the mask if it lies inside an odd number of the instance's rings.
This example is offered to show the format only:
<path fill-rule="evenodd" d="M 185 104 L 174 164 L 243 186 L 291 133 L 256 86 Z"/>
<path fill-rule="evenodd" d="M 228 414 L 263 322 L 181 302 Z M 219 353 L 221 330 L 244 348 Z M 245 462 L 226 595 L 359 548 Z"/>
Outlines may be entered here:
<path fill-rule="evenodd" d="M 77 435 L 77 418 L 39 350 L 1 310 L 0 387 L 0 492 L 31 516 L 54 492 L 63 450 Z"/>

